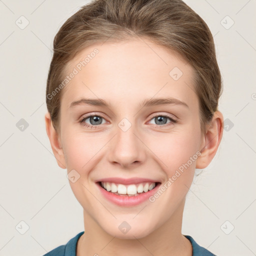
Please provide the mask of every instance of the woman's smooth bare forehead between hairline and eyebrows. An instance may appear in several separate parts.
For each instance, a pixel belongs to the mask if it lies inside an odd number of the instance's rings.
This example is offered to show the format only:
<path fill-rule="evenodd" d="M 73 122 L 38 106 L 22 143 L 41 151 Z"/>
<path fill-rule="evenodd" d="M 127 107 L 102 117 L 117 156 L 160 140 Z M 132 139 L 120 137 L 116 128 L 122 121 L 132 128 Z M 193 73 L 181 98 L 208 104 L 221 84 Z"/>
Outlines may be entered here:
<path fill-rule="evenodd" d="M 145 38 L 88 46 L 66 65 L 65 74 L 71 72 L 76 74 L 61 99 L 65 107 L 81 97 L 130 105 L 171 96 L 188 105 L 198 103 L 192 67 L 174 51 Z"/>

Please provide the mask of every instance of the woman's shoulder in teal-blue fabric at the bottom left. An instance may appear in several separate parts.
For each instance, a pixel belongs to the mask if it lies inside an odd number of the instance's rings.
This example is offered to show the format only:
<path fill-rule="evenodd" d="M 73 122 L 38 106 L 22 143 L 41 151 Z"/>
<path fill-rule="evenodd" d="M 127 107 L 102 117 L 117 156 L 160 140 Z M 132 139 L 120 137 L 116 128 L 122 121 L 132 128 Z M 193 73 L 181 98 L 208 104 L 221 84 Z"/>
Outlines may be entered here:
<path fill-rule="evenodd" d="M 84 231 L 78 233 L 66 244 L 56 247 L 55 249 L 47 252 L 46 254 L 43 254 L 43 256 L 75 256 L 77 241 L 83 233 Z"/>

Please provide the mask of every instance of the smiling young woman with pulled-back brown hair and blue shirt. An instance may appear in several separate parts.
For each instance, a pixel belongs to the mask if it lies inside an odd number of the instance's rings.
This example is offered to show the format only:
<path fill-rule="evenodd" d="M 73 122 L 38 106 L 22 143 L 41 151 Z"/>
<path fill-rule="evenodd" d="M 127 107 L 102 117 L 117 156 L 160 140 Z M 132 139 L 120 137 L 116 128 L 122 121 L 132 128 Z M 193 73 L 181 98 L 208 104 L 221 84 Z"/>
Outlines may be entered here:
<path fill-rule="evenodd" d="M 45 122 L 84 231 L 45 255 L 213 255 L 181 225 L 222 137 L 220 93 L 212 35 L 181 0 L 94 0 L 69 17 Z"/>

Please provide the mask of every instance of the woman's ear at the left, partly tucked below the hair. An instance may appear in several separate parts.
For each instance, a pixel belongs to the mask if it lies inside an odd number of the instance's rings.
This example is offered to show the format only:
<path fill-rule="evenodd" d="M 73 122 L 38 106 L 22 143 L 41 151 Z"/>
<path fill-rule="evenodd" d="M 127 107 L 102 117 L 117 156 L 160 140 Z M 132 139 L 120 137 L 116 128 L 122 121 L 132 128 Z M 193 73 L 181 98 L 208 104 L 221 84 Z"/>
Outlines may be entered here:
<path fill-rule="evenodd" d="M 51 145 L 53 154 L 57 160 L 58 166 L 62 169 L 65 169 L 66 168 L 65 157 L 64 157 L 64 151 L 62 149 L 61 142 L 60 142 L 60 136 L 52 125 L 49 112 L 45 114 L 44 118 L 45 118 L 46 132 L 50 140 L 50 145 Z"/>

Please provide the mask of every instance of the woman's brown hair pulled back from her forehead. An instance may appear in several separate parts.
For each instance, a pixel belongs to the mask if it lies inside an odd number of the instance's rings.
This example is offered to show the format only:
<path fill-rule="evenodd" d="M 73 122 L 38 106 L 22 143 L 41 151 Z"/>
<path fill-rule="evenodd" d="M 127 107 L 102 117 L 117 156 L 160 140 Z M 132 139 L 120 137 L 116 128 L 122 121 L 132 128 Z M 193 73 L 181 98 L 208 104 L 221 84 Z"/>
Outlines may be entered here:
<path fill-rule="evenodd" d="M 54 37 L 46 86 L 47 109 L 56 131 L 60 130 L 62 90 L 54 96 L 52 92 L 59 89 L 68 61 L 94 43 L 136 36 L 174 50 L 193 67 L 200 126 L 205 132 L 205 124 L 217 110 L 221 75 L 208 26 L 181 0 L 92 0 L 64 22 Z"/>

